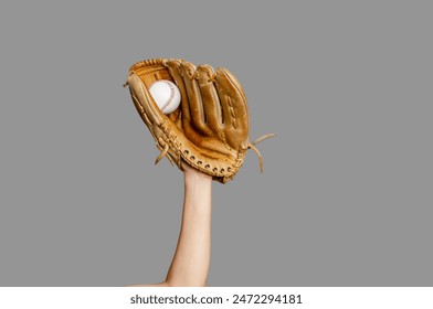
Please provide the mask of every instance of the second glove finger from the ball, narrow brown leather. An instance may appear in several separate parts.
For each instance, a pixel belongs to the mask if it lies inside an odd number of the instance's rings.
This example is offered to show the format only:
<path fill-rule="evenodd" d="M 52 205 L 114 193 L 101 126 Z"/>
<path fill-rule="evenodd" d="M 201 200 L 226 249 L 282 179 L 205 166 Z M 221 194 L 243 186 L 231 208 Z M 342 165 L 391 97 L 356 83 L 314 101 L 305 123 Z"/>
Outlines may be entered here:
<path fill-rule="evenodd" d="M 208 131 L 204 125 L 203 104 L 200 94 L 199 83 L 196 81 L 196 66 L 189 62 L 180 64 L 180 71 L 187 89 L 190 121 L 203 135 Z"/>

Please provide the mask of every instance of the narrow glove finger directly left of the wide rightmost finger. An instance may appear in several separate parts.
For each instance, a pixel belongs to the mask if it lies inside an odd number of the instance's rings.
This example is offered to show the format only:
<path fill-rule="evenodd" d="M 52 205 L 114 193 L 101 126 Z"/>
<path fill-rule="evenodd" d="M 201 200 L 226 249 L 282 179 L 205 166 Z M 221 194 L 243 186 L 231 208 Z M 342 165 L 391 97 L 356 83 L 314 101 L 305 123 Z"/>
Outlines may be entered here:
<path fill-rule="evenodd" d="M 222 127 L 222 111 L 220 98 L 212 81 L 214 73 L 212 66 L 208 64 L 200 65 L 196 71 L 203 103 L 205 124 L 216 131 Z"/>

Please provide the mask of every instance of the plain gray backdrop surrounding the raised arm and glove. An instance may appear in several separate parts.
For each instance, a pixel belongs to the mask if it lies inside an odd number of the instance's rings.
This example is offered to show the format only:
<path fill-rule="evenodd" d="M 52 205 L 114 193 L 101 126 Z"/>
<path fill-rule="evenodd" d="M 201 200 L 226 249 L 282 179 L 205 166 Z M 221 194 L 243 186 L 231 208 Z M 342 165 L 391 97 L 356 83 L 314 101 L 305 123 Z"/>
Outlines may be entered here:
<path fill-rule="evenodd" d="M 181 57 L 230 68 L 251 138 L 278 134 L 262 175 L 249 152 L 213 185 L 210 286 L 432 286 L 432 9 L 2 1 L 0 285 L 163 279 L 182 174 L 122 84 Z"/>

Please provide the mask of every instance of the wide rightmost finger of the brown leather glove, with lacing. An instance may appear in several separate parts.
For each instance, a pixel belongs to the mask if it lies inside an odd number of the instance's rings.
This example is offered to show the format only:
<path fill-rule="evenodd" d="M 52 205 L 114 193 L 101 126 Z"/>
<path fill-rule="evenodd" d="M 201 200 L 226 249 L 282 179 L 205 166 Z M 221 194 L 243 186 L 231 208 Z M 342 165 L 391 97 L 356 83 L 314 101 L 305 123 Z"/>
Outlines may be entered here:
<path fill-rule="evenodd" d="M 246 97 L 241 84 L 226 68 L 218 68 L 215 86 L 221 100 L 225 129 L 240 131 L 249 129 Z"/>

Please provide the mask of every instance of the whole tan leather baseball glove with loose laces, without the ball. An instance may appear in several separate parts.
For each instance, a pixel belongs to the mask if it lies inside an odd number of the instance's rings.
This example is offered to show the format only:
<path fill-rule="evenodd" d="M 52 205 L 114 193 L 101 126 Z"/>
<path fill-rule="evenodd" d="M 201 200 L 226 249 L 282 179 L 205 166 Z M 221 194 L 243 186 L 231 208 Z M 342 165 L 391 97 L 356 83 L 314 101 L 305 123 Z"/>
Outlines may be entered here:
<path fill-rule="evenodd" d="M 173 82 L 180 90 L 180 106 L 169 115 L 161 113 L 148 90 L 159 79 Z M 245 152 L 253 149 L 263 171 L 254 145 L 274 135 L 250 142 L 246 97 L 228 70 L 214 71 L 208 64 L 196 67 L 182 60 L 147 60 L 129 68 L 126 85 L 161 151 L 155 163 L 167 157 L 181 169 L 183 160 L 225 183 L 241 168 Z"/>

